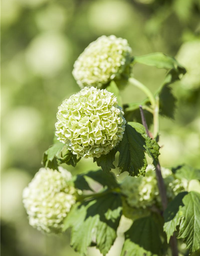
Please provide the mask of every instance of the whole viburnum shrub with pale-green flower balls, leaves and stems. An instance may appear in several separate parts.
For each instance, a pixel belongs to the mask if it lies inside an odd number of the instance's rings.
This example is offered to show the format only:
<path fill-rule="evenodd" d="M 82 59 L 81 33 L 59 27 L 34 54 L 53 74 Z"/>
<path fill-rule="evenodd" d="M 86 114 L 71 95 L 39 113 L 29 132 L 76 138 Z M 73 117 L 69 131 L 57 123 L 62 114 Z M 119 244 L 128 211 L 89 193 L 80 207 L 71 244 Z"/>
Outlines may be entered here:
<path fill-rule="evenodd" d="M 136 63 L 167 70 L 155 94 L 133 77 Z M 174 117 L 171 85 L 185 73 L 166 54 L 132 56 L 125 39 L 101 36 L 92 42 L 74 64 L 81 90 L 58 107 L 54 144 L 44 152 L 44 168 L 24 189 L 30 225 L 47 233 L 71 228 L 76 252 L 84 256 L 96 246 L 105 256 L 124 215 L 132 225 L 120 256 L 183 255 L 177 238 L 188 248 L 185 255 L 198 254 L 200 194 L 188 187 L 191 180 L 200 180 L 200 170 L 164 168 L 158 160 L 159 115 Z M 120 89 L 127 83 L 147 98 L 122 105 Z M 122 182 L 110 172 L 117 152 L 120 174 L 129 174 Z M 75 167 L 81 158 L 93 158 L 100 170 L 72 177 L 60 167 Z M 101 185 L 98 191 L 92 180 Z"/>

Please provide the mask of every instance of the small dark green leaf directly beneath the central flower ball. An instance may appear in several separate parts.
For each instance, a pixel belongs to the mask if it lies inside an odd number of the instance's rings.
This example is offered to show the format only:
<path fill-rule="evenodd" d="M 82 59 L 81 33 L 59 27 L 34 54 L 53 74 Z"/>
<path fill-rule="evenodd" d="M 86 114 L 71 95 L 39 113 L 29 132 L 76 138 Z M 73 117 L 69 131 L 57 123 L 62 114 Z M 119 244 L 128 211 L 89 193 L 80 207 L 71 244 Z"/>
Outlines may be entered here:
<path fill-rule="evenodd" d="M 115 160 L 117 151 L 118 148 L 116 146 L 110 152 L 108 152 L 108 154 L 101 155 L 99 158 L 94 157 L 94 162 L 96 162 L 96 164 L 100 166 L 104 172 L 109 174 L 111 169 L 115 169 L 113 162 Z"/>

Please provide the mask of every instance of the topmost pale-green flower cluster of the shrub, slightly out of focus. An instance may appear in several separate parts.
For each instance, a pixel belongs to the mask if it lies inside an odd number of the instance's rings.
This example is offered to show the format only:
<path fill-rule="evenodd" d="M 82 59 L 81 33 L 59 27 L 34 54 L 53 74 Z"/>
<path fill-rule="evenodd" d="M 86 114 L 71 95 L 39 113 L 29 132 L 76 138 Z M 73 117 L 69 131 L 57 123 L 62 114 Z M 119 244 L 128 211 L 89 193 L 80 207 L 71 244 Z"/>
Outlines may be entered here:
<path fill-rule="evenodd" d="M 131 52 L 126 39 L 101 36 L 80 54 L 72 74 L 80 88 L 101 88 L 110 80 L 119 80 L 122 74 L 130 75 Z"/>

